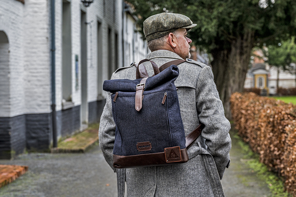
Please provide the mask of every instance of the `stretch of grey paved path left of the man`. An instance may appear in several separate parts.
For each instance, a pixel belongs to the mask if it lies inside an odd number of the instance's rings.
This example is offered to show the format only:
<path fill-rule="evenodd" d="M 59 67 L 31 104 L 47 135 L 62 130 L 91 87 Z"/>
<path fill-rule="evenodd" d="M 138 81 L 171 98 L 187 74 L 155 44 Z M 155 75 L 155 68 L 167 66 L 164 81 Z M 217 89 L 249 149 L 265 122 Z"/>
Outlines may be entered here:
<path fill-rule="evenodd" d="M 23 154 L 0 164 L 29 166 L 28 172 L 0 188 L 1 197 L 117 196 L 116 174 L 98 145 L 87 153 Z"/>

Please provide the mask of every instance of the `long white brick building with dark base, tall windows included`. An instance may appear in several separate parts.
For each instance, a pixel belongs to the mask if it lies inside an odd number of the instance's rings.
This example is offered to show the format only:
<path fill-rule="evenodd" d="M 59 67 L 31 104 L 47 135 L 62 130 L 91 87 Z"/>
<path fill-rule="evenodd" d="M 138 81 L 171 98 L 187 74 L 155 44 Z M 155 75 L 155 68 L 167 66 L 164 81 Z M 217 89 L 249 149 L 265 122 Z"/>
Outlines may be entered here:
<path fill-rule="evenodd" d="M 50 2 L 0 0 L 0 158 L 48 149 L 52 142 Z M 55 0 L 58 137 L 98 122 L 103 81 L 147 55 L 136 25 L 127 28 L 135 19 L 123 5 L 95 0 L 86 8 L 80 0 Z"/>

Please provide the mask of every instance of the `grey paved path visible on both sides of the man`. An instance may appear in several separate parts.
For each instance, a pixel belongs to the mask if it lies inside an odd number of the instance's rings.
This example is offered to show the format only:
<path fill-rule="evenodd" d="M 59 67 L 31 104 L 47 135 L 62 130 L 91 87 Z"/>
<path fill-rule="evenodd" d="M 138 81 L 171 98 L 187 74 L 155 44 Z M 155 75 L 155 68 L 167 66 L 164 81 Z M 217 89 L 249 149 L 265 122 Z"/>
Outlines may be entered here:
<path fill-rule="evenodd" d="M 222 179 L 225 196 L 270 196 L 268 186 L 242 162 L 243 153 L 232 139 L 231 165 Z M 116 174 L 98 145 L 87 153 L 23 154 L 12 161 L 0 160 L 0 164 L 29 166 L 25 175 L 0 188 L 1 197 L 117 196 Z"/>

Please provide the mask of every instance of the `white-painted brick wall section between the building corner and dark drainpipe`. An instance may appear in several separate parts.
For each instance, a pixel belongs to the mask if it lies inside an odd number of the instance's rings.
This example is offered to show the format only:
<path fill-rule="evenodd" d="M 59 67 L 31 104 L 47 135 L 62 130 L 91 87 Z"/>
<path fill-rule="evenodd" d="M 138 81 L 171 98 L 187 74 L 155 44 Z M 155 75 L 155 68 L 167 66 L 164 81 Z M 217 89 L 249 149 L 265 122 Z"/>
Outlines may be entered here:
<path fill-rule="evenodd" d="M 21 32 L 24 35 L 25 113 L 51 112 L 49 19 L 48 1 L 25 1 L 24 31 Z"/>

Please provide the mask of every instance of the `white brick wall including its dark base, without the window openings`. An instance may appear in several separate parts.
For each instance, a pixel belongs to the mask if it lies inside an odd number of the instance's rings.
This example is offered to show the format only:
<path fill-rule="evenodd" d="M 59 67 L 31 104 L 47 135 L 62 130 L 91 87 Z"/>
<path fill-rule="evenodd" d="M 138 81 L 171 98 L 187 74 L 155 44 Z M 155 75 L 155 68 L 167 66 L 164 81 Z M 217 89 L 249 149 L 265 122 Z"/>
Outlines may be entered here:
<path fill-rule="evenodd" d="M 89 122 L 98 121 L 102 113 L 105 101 L 102 97 L 98 98 L 98 95 L 105 95 L 102 84 L 104 80 L 109 79 L 109 65 L 116 65 L 113 66 L 112 72 L 118 67 L 126 66 L 122 63 L 122 1 L 96 0 L 88 8 L 83 7 L 80 0 L 69 1 L 71 90 L 74 106 L 62 110 L 63 1 L 55 0 L 56 110 L 59 137 L 79 130 L 82 125 L 81 10 L 86 12 L 86 21 L 91 24 L 87 25 L 86 33 L 86 94 L 89 103 L 87 106 Z M 50 1 L 26 0 L 23 4 L 15 0 L 0 0 L 0 5 L 0 36 L 1 39 L 7 37 L 6 43 L 0 43 L 0 138 L 6 140 L 3 143 L 17 154 L 24 150 L 25 144 L 28 149 L 46 149 L 52 140 Z M 102 36 L 99 38 L 102 41 L 102 60 L 99 61 L 99 65 L 97 64 L 98 22 L 102 31 Z M 115 34 L 117 43 L 115 43 Z M 117 56 L 115 56 L 116 51 Z M 108 55 L 110 52 L 111 57 Z M 77 89 L 75 55 L 79 58 Z"/>

